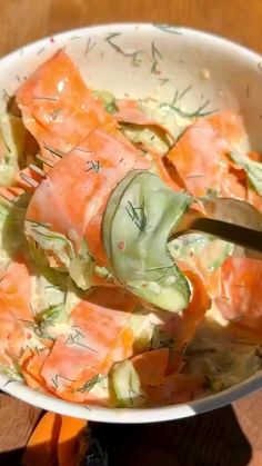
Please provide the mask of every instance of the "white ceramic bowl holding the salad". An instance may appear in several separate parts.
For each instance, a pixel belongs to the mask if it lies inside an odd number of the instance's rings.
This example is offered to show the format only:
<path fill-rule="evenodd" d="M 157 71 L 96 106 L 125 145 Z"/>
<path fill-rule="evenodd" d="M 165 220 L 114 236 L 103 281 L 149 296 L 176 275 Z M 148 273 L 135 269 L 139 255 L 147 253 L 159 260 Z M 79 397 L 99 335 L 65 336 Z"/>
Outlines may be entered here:
<path fill-rule="evenodd" d="M 0 61 L 0 109 L 7 93 L 59 48 L 79 66 L 88 85 L 117 96 L 172 101 L 191 86 L 184 109 L 238 109 L 252 147 L 262 147 L 262 58 L 215 36 L 163 24 L 107 24 L 63 32 L 24 47 Z M 7 92 L 7 93 L 6 93 Z M 262 373 L 222 393 L 189 404 L 150 409 L 108 409 L 68 403 L 34 391 L 0 374 L 0 389 L 31 405 L 108 423 L 179 419 L 232 403 L 262 387 Z"/>

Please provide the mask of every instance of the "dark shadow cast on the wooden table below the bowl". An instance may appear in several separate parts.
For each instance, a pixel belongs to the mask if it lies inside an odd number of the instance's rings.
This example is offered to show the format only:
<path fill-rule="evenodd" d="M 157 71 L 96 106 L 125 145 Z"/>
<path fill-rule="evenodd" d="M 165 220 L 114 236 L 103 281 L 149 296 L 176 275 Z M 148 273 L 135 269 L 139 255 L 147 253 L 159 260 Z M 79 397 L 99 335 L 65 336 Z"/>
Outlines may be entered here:
<path fill-rule="evenodd" d="M 252 454 L 231 406 L 168 423 L 92 423 L 92 435 L 108 466 L 246 466 Z"/>

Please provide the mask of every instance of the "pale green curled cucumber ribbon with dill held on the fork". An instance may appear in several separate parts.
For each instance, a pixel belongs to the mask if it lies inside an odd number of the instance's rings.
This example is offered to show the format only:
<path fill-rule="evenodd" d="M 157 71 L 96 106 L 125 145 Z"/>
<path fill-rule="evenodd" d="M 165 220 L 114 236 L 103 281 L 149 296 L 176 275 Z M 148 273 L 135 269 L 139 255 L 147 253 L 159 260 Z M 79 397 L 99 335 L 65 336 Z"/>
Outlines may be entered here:
<path fill-rule="evenodd" d="M 168 240 L 192 201 L 190 195 L 174 192 L 158 176 L 133 170 L 112 192 L 103 216 L 103 244 L 117 280 L 172 313 L 188 306 L 190 287 Z"/>

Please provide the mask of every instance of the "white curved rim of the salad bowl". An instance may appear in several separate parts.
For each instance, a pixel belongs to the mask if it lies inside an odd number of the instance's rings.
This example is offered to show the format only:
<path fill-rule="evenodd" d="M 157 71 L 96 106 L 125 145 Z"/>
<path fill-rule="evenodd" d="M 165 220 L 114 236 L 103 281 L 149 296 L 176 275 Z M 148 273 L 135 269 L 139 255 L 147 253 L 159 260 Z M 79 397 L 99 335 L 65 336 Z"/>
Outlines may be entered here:
<path fill-rule="evenodd" d="M 240 43 L 235 43 L 230 39 L 225 39 L 212 32 L 201 31 L 198 29 L 177 24 L 158 24 L 151 22 L 113 22 L 74 28 L 58 32 L 56 34 L 46 36 L 42 39 L 32 41 L 28 44 L 20 47 L 19 49 L 9 52 L 6 56 L 2 56 L 0 58 L 0 68 L 4 67 L 4 65 L 8 66 L 13 60 L 16 61 L 18 54 L 21 54 L 22 50 L 23 52 L 27 51 L 29 54 L 31 54 L 36 50 L 36 48 L 42 47 L 47 43 L 47 41 L 50 42 L 50 38 L 53 38 L 54 41 L 56 39 L 67 40 L 67 38 L 70 37 L 72 33 L 101 34 L 107 30 L 110 31 L 111 29 L 117 28 L 127 32 L 133 31 L 133 29 L 135 28 L 140 28 L 145 31 L 149 30 L 152 32 L 153 27 L 159 27 L 159 29 L 160 27 L 172 27 L 175 28 L 178 34 L 188 34 L 189 38 L 194 38 L 198 40 L 205 39 L 206 41 L 211 41 L 214 46 L 218 46 L 220 48 L 230 48 L 233 52 L 239 53 L 239 56 L 242 57 L 242 59 L 245 59 L 249 62 L 253 62 L 256 65 L 262 62 L 262 57 L 259 52 L 255 52 Z M 144 424 L 180 419 L 225 406 L 261 387 L 262 370 L 258 371 L 255 375 L 242 381 L 241 384 L 238 384 L 236 386 L 230 387 L 218 394 L 212 394 L 203 398 L 194 399 L 191 403 L 160 407 L 158 406 L 152 408 L 127 409 L 87 406 L 84 404 L 67 401 L 57 398 L 52 395 L 33 390 L 23 385 L 22 383 L 10 380 L 7 375 L 0 373 L 0 389 L 22 401 L 29 403 L 30 405 L 39 407 L 41 409 L 51 410 L 62 415 L 84 418 L 88 420 L 114 424 Z"/>

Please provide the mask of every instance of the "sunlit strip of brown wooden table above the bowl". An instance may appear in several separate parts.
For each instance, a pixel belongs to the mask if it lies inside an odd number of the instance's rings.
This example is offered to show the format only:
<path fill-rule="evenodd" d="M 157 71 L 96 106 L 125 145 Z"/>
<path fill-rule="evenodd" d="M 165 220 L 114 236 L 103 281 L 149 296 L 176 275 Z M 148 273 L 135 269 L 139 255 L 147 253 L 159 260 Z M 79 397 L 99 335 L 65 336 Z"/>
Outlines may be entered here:
<path fill-rule="evenodd" d="M 189 26 L 262 52 L 261 0 L 1 0 L 0 54 L 59 31 L 117 21 Z"/>

